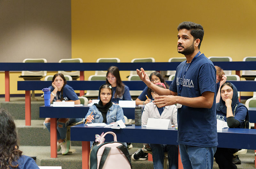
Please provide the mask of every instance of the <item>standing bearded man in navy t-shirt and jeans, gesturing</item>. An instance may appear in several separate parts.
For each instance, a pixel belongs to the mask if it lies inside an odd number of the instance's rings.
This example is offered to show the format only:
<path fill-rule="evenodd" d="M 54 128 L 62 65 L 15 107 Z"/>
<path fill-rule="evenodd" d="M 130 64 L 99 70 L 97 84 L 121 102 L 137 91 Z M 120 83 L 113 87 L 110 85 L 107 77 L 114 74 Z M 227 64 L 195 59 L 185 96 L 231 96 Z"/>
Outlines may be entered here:
<path fill-rule="evenodd" d="M 176 69 L 169 89 L 150 82 L 144 69 L 137 69 L 140 79 L 159 96 L 153 101 L 161 107 L 177 104 L 178 138 L 183 167 L 212 168 L 216 151 L 217 120 L 215 107 L 216 69 L 200 52 L 203 26 L 182 22 L 178 26 L 178 52 L 186 61 Z"/>

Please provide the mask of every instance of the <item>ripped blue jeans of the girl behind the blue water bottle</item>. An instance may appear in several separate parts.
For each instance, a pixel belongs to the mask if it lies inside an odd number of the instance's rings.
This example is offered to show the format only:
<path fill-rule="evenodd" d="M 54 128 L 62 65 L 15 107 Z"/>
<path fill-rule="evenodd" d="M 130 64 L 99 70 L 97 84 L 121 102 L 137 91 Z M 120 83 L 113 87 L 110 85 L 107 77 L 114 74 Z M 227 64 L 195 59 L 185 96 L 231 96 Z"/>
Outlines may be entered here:
<path fill-rule="evenodd" d="M 69 118 L 69 121 L 67 121 L 66 123 L 61 123 L 59 122 L 59 119 L 57 119 L 57 140 L 60 140 L 60 139 L 64 140 L 67 135 L 67 126 L 71 123 L 78 122 L 78 121 L 82 121 L 82 118 Z M 51 132 L 50 130 L 51 123 L 44 122 L 44 125 L 48 129 L 48 131 Z"/>

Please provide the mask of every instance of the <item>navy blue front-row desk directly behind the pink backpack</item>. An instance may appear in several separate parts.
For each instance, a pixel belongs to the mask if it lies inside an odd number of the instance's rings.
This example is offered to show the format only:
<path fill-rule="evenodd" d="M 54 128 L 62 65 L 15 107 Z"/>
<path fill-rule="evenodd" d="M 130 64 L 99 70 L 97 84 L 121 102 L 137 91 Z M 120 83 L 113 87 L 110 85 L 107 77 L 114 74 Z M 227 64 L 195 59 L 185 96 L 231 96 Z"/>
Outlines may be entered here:
<path fill-rule="evenodd" d="M 142 126 L 127 126 L 124 129 L 111 129 L 103 127 L 87 127 L 79 124 L 71 127 L 71 140 L 94 141 L 95 134 L 113 131 L 117 135 L 117 141 L 131 143 L 156 143 L 177 145 L 178 131 L 172 129 L 148 129 Z M 113 141 L 113 136 L 106 138 Z M 218 131 L 218 147 L 256 149 L 255 129 L 222 129 Z"/>

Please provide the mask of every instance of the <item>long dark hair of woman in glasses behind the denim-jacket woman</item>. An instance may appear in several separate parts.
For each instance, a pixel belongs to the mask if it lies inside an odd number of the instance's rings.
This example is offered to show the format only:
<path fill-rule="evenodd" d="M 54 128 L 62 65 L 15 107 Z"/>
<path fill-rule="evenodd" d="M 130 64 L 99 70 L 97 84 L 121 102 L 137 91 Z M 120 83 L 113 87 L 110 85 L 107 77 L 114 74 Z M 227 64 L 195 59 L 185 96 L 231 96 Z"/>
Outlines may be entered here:
<path fill-rule="evenodd" d="M 116 92 L 115 92 L 114 98 L 121 97 L 124 94 L 124 84 L 121 80 L 118 67 L 116 66 L 109 67 L 106 76 L 108 76 L 108 73 L 111 73 L 113 76 L 116 77 Z M 106 84 L 110 85 L 110 83 L 108 82 L 108 79 L 106 79 Z"/>

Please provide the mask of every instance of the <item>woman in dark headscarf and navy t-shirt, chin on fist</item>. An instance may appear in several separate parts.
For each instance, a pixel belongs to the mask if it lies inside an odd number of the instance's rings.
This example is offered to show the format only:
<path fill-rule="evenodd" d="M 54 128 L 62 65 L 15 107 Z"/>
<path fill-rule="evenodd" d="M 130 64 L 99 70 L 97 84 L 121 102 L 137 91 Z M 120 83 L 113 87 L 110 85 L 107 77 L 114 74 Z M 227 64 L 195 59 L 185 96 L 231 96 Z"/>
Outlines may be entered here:
<path fill-rule="evenodd" d="M 220 93 L 220 102 L 216 104 L 217 119 L 226 121 L 229 128 L 244 128 L 245 121 L 249 120 L 249 114 L 247 108 L 238 100 L 236 86 L 226 82 L 221 85 Z M 238 149 L 217 147 L 214 157 L 219 168 L 236 169 L 237 167 L 232 161 L 233 153 L 237 151 Z"/>

